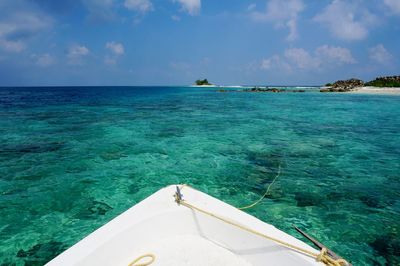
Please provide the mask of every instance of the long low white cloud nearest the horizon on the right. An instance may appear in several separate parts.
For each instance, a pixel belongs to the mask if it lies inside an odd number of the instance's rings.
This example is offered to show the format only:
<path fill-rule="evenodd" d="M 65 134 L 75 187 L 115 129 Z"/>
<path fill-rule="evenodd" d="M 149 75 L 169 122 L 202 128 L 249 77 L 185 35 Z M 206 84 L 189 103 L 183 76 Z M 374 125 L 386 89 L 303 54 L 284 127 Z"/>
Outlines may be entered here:
<path fill-rule="evenodd" d="M 289 48 L 283 56 L 273 55 L 261 60 L 260 68 L 264 70 L 283 69 L 286 71 L 315 70 L 329 66 L 354 64 L 350 50 L 343 47 L 323 45 L 317 47 L 312 53 L 303 48 Z"/>

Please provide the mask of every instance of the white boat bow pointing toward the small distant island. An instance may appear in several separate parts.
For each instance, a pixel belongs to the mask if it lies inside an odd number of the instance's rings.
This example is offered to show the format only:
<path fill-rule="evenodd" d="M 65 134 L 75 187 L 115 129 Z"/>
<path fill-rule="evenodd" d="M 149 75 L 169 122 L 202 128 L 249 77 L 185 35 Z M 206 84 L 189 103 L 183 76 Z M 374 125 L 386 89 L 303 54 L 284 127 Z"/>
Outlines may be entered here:
<path fill-rule="evenodd" d="M 47 265 L 129 265 L 154 254 L 152 265 L 323 265 L 315 259 L 178 205 L 168 186 L 133 206 Z M 304 242 L 190 187 L 191 204 L 263 234 L 318 253 Z"/>

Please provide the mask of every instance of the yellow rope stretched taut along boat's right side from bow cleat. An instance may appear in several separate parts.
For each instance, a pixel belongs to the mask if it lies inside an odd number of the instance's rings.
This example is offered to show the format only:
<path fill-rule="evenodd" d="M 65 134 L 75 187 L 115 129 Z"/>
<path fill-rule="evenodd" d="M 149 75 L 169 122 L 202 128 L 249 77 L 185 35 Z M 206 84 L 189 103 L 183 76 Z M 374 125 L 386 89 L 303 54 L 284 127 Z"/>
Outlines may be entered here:
<path fill-rule="evenodd" d="M 325 263 L 325 265 L 328 265 L 328 266 L 343 266 L 343 265 L 349 265 L 349 263 L 348 263 L 346 260 L 344 260 L 344 259 L 335 260 L 335 259 L 331 258 L 331 257 L 327 254 L 326 249 L 325 249 L 325 250 L 322 249 L 320 253 L 314 253 L 314 252 L 308 251 L 308 250 L 306 250 L 306 249 L 304 249 L 304 248 L 297 247 L 297 246 L 292 245 L 292 244 L 290 244 L 290 243 L 287 243 L 287 242 L 285 242 L 285 241 L 279 240 L 279 239 L 277 239 L 277 238 L 274 238 L 274 237 L 265 235 L 265 234 L 263 234 L 263 233 L 260 233 L 260 232 L 258 232 L 258 231 L 255 231 L 255 230 L 253 230 L 253 229 L 251 229 L 251 228 L 249 228 L 249 227 L 246 227 L 246 226 L 244 226 L 244 225 L 240 225 L 240 224 L 237 224 L 237 223 L 235 223 L 235 222 L 229 221 L 229 220 L 227 220 L 227 219 L 225 219 L 225 218 L 223 218 L 223 217 L 221 217 L 221 216 L 218 216 L 218 215 L 216 215 L 216 214 L 214 214 L 214 213 L 208 212 L 208 211 L 203 210 L 203 209 L 201 209 L 201 208 L 199 208 L 199 207 L 196 207 L 196 206 L 194 206 L 194 205 L 191 205 L 190 203 L 187 203 L 187 202 L 184 201 L 184 200 L 180 200 L 178 203 L 181 204 L 181 205 L 183 205 L 183 206 L 185 206 L 185 207 L 188 207 L 188 208 L 190 208 L 190 209 L 192 209 L 192 210 L 196 210 L 196 211 L 199 211 L 199 212 L 201 212 L 201 213 L 204 213 L 204 214 L 206 214 L 206 215 L 208 215 L 208 216 L 214 217 L 214 218 L 216 218 L 216 219 L 218 219 L 218 220 L 220 220 L 220 221 L 223 221 L 223 222 L 225 222 L 225 223 L 227 223 L 227 224 L 230 224 L 230 225 L 232 225 L 232 226 L 235 226 L 235 227 L 237 227 L 237 228 L 239 228 L 239 229 L 242 229 L 242 230 L 244 230 L 244 231 L 247 231 L 247 232 L 249 232 L 249 233 L 252 233 L 252 234 L 255 234 L 255 235 L 257 235 L 257 236 L 260 236 L 260 237 L 266 238 L 266 239 L 268 239 L 268 240 L 271 240 L 271 241 L 273 241 L 273 242 L 275 242 L 275 243 L 280 244 L 281 246 L 285 246 L 285 247 L 287 247 L 287 248 L 289 248 L 289 249 L 292 249 L 292 250 L 294 250 L 294 251 L 297 251 L 297 252 L 300 252 L 300 253 L 302 253 L 302 254 L 304 254 L 304 255 L 307 255 L 307 256 L 309 256 L 309 257 L 312 257 L 312 258 L 316 259 L 317 261 L 320 261 L 320 262 Z"/>

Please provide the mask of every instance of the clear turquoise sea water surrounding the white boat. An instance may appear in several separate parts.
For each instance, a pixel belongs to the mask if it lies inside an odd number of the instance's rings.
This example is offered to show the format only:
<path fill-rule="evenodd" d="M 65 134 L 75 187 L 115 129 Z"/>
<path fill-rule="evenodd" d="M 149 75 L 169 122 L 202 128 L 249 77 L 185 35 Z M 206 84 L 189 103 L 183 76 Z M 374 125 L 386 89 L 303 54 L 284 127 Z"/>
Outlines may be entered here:
<path fill-rule="evenodd" d="M 354 265 L 399 265 L 400 97 L 0 88 L 0 265 L 41 265 L 188 183 Z M 300 238 L 300 237 L 299 237 Z"/>

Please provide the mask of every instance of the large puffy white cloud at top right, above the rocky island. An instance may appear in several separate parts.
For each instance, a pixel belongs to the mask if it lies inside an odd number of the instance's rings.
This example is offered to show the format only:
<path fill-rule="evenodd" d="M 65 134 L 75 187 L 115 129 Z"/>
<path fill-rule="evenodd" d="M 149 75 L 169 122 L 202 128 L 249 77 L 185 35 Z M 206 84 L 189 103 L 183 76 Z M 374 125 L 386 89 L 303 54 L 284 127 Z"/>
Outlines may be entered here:
<path fill-rule="evenodd" d="M 331 33 L 342 40 L 363 40 L 368 35 L 369 26 L 377 18 L 368 10 L 352 1 L 334 0 L 314 21 L 322 23 Z"/>

